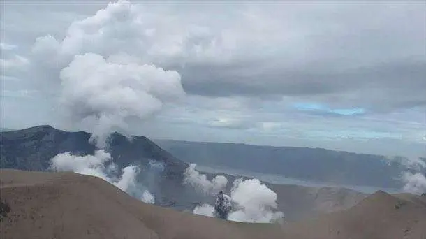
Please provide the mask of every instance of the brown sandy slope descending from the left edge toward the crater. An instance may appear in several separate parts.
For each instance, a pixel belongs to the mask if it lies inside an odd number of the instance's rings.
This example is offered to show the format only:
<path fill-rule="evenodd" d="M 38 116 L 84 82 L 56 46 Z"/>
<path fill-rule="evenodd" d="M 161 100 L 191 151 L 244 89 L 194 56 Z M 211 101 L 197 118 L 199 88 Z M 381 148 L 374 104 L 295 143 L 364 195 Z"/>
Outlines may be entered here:
<path fill-rule="evenodd" d="M 277 226 L 189 215 L 142 203 L 111 184 L 76 173 L 2 170 L 1 201 L 10 212 L 0 238 L 277 238 Z"/>

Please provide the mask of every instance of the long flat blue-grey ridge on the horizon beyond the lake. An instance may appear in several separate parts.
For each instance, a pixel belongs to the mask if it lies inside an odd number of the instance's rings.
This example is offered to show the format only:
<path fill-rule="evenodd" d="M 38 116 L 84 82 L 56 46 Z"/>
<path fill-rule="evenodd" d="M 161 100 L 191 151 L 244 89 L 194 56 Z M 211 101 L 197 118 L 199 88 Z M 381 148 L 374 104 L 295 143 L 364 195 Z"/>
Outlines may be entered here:
<path fill-rule="evenodd" d="M 321 148 L 179 140 L 154 140 L 154 142 L 186 162 L 279 174 L 309 181 L 400 188 L 402 182 L 399 177 L 402 171 L 407 170 L 402 164 L 401 157 L 389 160 L 381 155 L 338 152 Z"/>

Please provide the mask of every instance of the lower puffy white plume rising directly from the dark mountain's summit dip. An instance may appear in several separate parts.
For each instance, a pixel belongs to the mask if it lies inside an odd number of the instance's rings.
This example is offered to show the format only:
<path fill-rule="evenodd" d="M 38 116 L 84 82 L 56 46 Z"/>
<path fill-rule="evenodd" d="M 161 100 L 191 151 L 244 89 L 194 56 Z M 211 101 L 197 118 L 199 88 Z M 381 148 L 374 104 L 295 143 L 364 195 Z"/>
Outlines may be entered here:
<path fill-rule="evenodd" d="M 126 119 L 146 119 L 163 102 L 184 96 L 180 75 L 153 65 L 119 64 L 100 55 L 78 55 L 61 71 L 61 103 L 75 119 L 92 118 L 96 142 Z M 102 146 L 102 145 L 101 145 Z"/>

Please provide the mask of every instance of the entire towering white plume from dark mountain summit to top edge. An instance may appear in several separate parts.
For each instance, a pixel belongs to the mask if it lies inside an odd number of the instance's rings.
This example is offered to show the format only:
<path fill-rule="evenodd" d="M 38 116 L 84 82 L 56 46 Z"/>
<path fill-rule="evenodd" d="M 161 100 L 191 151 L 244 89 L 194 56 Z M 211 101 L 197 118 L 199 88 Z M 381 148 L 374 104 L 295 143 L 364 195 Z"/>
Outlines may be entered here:
<path fill-rule="evenodd" d="M 41 78 L 52 78 L 67 119 L 90 129 L 99 148 L 112 131 L 128 131 L 132 119 L 147 119 L 185 94 L 179 73 L 154 61 L 184 55 L 182 45 L 173 51 L 182 42 L 159 36 L 147 15 L 118 1 L 73 22 L 62 41 L 49 35 L 34 43 Z"/>

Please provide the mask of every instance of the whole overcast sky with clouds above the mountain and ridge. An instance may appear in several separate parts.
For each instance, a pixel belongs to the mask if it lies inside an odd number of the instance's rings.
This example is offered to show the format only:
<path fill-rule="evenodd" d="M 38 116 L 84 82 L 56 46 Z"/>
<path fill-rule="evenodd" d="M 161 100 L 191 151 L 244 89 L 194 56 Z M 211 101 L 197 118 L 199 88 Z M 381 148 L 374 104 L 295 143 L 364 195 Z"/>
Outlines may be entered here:
<path fill-rule="evenodd" d="M 425 1 L 1 1 L 1 127 L 425 157 L 425 13 Z"/>

